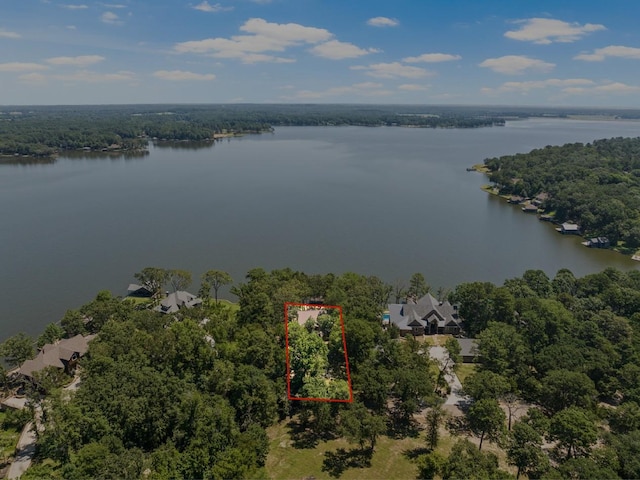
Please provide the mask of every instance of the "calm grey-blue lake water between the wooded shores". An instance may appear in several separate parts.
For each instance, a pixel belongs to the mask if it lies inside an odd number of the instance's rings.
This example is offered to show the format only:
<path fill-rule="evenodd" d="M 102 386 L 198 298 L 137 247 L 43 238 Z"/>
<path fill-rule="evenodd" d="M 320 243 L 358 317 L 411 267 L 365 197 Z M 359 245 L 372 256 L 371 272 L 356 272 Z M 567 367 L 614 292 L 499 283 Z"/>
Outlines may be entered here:
<path fill-rule="evenodd" d="M 480 190 L 465 168 L 640 123 L 527 120 L 468 130 L 291 127 L 143 158 L 0 165 L 0 339 L 36 335 L 145 266 L 355 271 L 434 286 L 540 268 L 640 265 L 579 245 Z M 191 288 L 197 291 L 197 284 Z"/>

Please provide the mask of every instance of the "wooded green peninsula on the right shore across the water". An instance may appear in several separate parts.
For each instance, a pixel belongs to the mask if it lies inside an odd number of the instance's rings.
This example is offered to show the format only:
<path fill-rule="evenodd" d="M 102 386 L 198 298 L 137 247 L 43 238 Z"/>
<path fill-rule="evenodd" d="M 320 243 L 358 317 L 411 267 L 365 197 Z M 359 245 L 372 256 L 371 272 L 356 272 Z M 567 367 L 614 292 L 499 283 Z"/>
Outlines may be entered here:
<path fill-rule="evenodd" d="M 608 237 L 633 253 L 640 247 L 640 137 L 547 146 L 484 161 L 501 194 L 535 197 L 558 223 L 587 237 Z"/>

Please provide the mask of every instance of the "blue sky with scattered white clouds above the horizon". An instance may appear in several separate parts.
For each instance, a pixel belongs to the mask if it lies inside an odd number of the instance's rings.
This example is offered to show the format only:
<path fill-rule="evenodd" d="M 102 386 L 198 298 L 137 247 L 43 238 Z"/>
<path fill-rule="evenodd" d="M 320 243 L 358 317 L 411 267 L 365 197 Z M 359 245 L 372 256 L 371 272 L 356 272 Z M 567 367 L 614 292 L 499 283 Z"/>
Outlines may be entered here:
<path fill-rule="evenodd" d="M 640 108 L 639 18 L 638 0 L 0 0 L 0 105 Z"/>

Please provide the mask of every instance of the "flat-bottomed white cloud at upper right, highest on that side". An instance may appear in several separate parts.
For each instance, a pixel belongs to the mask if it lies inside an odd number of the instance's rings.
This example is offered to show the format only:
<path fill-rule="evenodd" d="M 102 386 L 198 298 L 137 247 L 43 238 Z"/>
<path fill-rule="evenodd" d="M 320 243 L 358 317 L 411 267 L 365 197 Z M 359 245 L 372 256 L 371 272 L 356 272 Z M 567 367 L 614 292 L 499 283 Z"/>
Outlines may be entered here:
<path fill-rule="evenodd" d="M 591 32 L 606 30 L 606 27 L 600 24 L 585 23 L 580 25 L 552 18 L 529 18 L 514 23 L 520 24 L 520 28 L 506 32 L 505 37 L 543 45 L 554 42 L 571 43 Z"/>

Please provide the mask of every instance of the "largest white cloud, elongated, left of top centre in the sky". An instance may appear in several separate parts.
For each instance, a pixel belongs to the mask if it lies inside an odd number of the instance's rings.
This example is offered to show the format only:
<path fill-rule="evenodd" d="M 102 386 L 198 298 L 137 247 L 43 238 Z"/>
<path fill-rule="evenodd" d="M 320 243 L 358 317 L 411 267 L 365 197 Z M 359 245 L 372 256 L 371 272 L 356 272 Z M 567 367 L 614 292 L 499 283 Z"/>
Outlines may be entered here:
<path fill-rule="evenodd" d="M 305 27 L 297 23 L 270 23 L 261 18 L 247 20 L 240 30 L 249 35 L 234 35 L 231 38 L 207 38 L 177 43 L 177 53 L 196 53 L 216 58 L 237 58 L 245 63 L 275 62 L 291 63 L 294 59 L 275 57 L 265 52 L 283 52 L 297 45 L 325 42 L 333 37 L 328 30 Z"/>

